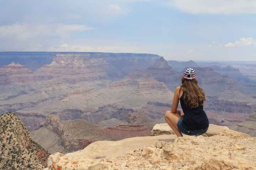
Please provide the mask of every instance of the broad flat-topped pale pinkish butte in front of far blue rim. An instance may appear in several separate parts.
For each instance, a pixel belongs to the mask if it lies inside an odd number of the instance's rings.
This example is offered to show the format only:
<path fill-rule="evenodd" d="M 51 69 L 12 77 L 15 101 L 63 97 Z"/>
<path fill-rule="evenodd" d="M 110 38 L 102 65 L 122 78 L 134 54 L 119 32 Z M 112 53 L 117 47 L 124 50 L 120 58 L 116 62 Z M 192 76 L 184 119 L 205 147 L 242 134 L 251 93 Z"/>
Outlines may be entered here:
<path fill-rule="evenodd" d="M 40 80 L 62 79 L 66 83 L 74 84 L 80 81 L 107 79 L 107 67 L 105 59 L 92 58 L 89 54 L 59 54 L 52 63 L 37 69 L 35 73 Z"/>

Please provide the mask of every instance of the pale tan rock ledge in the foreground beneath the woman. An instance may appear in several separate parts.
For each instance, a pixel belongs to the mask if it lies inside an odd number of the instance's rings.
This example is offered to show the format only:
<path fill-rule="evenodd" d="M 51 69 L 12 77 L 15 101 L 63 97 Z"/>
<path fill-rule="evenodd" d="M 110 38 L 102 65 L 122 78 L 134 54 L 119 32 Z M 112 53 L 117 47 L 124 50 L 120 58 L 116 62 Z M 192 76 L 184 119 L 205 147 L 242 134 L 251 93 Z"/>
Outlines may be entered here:
<path fill-rule="evenodd" d="M 94 142 L 78 152 L 50 155 L 48 169 L 256 169 L 256 138 L 249 135 L 221 129 L 210 137 L 175 138 L 159 135 Z"/>

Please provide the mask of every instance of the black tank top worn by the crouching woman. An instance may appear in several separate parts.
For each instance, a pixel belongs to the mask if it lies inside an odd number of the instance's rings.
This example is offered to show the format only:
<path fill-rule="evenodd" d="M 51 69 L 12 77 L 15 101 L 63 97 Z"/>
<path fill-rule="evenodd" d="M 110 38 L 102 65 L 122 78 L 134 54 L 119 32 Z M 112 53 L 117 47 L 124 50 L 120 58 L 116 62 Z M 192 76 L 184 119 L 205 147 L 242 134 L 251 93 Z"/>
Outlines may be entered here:
<path fill-rule="evenodd" d="M 203 106 L 199 105 L 195 108 L 189 108 L 186 103 L 186 94 L 183 92 L 180 103 L 181 108 L 184 113 L 184 117 L 182 120 L 182 127 L 187 130 L 197 130 L 204 129 L 209 127 L 209 120 L 207 118 L 206 113 L 203 110 Z"/>

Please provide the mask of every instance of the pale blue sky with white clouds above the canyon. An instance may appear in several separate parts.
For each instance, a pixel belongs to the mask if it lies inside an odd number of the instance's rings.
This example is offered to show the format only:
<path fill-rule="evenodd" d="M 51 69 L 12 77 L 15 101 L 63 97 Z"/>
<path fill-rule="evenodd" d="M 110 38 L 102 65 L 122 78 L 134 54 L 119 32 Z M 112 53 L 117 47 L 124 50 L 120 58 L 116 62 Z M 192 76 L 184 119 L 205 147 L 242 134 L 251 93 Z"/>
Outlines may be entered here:
<path fill-rule="evenodd" d="M 0 51 L 256 61 L 256 0 L 0 0 Z"/>

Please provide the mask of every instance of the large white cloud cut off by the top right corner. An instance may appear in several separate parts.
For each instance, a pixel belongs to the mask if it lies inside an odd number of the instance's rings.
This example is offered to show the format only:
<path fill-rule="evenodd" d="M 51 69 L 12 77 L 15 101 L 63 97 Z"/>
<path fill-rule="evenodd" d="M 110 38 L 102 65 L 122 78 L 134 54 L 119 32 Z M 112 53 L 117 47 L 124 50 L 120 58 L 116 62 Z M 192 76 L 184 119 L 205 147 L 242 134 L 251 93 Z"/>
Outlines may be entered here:
<path fill-rule="evenodd" d="M 189 13 L 256 13 L 255 0 L 172 0 L 169 5 Z"/>

